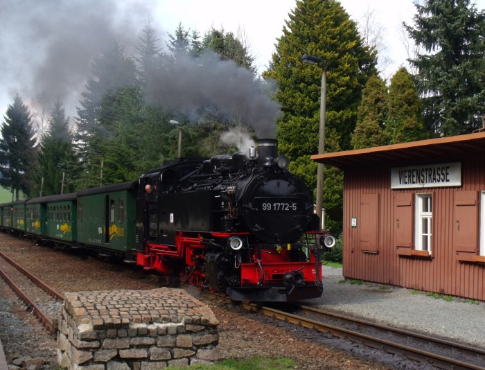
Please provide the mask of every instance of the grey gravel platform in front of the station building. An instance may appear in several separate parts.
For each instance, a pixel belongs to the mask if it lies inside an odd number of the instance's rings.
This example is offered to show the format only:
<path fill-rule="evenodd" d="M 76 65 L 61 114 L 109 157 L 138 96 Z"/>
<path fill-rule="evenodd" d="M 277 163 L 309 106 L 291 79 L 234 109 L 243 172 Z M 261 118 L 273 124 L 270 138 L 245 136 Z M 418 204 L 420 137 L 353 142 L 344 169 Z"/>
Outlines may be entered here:
<path fill-rule="evenodd" d="M 309 300 L 312 306 L 485 349 L 482 301 L 446 301 L 390 285 L 343 282 L 338 267 L 324 266 L 323 274 L 324 294 Z"/>

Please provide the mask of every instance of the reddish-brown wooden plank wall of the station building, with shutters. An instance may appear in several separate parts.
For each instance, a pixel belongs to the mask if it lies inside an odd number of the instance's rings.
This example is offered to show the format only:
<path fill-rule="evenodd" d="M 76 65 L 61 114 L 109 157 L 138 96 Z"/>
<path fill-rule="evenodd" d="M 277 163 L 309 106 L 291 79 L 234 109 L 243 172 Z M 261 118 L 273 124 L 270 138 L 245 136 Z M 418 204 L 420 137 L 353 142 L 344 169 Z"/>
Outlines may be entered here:
<path fill-rule="evenodd" d="M 461 186 L 391 189 L 393 167 L 457 161 Z M 485 152 L 344 166 L 344 276 L 484 301 L 485 263 L 473 260 L 479 254 L 480 220 L 485 222 L 481 191 Z M 414 250 L 416 193 L 432 193 L 430 256 Z"/>

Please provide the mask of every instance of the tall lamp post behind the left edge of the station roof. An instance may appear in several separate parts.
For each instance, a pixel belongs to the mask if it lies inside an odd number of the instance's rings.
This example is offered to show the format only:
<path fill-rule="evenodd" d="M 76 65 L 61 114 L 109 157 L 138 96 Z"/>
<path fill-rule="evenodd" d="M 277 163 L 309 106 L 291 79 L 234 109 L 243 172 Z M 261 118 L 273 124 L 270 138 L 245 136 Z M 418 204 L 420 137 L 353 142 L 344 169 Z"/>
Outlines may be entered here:
<path fill-rule="evenodd" d="M 303 63 L 317 64 L 323 63 L 323 60 L 312 55 L 304 54 L 302 58 Z M 321 70 L 321 91 L 320 91 L 320 127 L 318 136 L 318 154 L 324 154 L 325 152 L 325 109 L 326 109 L 326 85 L 327 85 L 327 71 L 326 66 L 323 63 Z M 323 229 L 324 219 L 322 218 L 323 209 L 323 196 L 324 196 L 324 164 L 319 163 L 317 165 L 317 215 L 320 218 L 320 227 Z"/>

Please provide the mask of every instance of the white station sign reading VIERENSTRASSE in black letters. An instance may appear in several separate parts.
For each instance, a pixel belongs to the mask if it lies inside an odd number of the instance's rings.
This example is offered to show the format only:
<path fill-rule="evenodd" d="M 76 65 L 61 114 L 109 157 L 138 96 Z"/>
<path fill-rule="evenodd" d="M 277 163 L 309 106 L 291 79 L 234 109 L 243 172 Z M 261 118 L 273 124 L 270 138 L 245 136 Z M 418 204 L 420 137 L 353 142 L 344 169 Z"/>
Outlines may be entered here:
<path fill-rule="evenodd" d="M 391 189 L 461 186 L 461 162 L 391 168 Z"/>

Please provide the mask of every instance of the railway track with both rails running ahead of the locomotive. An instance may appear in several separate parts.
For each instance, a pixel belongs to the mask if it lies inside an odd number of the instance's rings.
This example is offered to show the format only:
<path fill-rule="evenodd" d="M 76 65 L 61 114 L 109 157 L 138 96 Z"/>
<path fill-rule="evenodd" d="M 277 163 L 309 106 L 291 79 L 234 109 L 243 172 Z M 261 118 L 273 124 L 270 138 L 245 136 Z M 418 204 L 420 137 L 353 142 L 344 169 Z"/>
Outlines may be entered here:
<path fill-rule="evenodd" d="M 360 342 L 396 355 L 403 355 L 410 360 L 432 364 L 439 369 L 485 369 L 485 350 L 483 349 L 370 321 L 344 317 L 308 306 L 299 306 L 298 314 L 292 314 L 255 303 L 241 303 L 241 305 L 252 312 L 260 312 L 269 317 L 320 332 L 330 332 L 337 337 Z"/>

